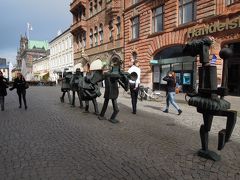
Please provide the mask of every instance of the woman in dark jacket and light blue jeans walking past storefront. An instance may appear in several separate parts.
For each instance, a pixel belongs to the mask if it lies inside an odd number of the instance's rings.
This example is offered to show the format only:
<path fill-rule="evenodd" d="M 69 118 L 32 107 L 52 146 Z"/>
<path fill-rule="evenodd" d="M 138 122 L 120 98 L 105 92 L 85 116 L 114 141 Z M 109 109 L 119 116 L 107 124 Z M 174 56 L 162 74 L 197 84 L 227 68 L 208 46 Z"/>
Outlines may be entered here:
<path fill-rule="evenodd" d="M 178 115 L 182 113 L 182 110 L 179 108 L 177 103 L 175 102 L 175 88 L 176 88 L 176 79 L 175 73 L 170 71 L 168 75 L 163 78 L 164 81 L 167 81 L 167 89 L 166 89 L 166 108 L 163 112 L 168 113 L 169 104 L 171 103 L 173 107 L 175 107 L 178 111 Z"/>

